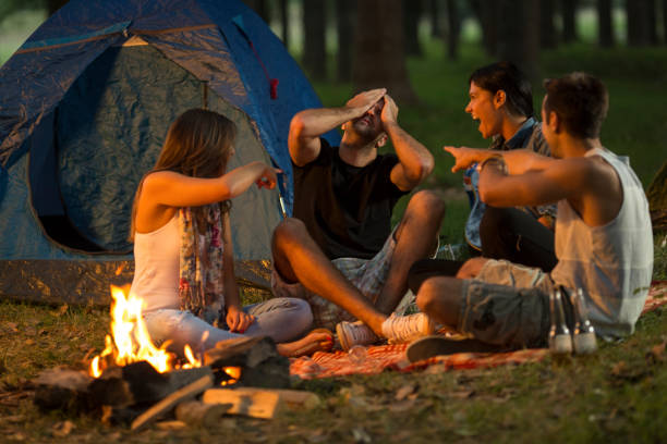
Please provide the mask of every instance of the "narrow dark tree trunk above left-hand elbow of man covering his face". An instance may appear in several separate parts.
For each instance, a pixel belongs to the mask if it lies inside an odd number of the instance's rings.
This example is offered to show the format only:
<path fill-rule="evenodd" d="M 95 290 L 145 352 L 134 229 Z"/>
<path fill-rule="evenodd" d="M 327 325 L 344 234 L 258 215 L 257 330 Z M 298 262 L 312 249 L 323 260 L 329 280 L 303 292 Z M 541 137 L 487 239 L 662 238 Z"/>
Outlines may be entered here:
<path fill-rule="evenodd" d="M 312 81 L 327 76 L 325 0 L 303 1 L 303 66 Z"/>

